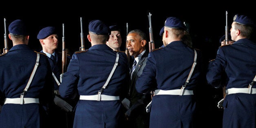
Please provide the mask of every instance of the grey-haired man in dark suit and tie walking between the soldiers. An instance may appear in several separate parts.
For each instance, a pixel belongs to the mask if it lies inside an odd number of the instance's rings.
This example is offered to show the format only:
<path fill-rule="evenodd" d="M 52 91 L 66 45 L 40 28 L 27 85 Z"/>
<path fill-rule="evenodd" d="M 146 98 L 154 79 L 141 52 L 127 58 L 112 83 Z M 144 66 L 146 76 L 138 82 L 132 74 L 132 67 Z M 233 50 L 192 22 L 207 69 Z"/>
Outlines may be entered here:
<path fill-rule="evenodd" d="M 146 106 L 151 100 L 151 95 L 138 93 L 135 89 L 135 83 L 142 74 L 148 59 L 148 52 L 145 48 L 147 43 L 146 34 L 141 30 L 132 30 L 128 33 L 126 39 L 129 54 L 135 59 L 130 70 L 131 81 L 128 91 L 130 106 L 125 114 L 130 120 L 131 128 L 148 128 L 149 113 L 146 112 Z"/>

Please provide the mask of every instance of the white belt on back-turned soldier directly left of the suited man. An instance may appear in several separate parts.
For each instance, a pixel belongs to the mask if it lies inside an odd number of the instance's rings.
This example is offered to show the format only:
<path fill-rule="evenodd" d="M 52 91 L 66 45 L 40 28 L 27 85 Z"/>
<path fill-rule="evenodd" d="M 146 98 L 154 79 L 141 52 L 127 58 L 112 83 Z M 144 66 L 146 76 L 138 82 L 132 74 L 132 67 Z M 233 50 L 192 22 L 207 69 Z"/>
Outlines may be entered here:
<path fill-rule="evenodd" d="M 80 95 L 82 100 L 97 100 L 98 95 Z M 101 95 L 100 100 L 119 100 L 119 96 L 111 96 L 111 95 Z"/>

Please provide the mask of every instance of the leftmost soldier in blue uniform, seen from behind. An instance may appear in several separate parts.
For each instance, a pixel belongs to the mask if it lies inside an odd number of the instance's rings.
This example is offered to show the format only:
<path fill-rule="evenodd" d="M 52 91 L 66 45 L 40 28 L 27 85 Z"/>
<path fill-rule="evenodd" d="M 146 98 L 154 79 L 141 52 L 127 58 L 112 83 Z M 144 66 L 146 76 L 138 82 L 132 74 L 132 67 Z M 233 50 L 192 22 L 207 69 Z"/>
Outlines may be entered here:
<path fill-rule="evenodd" d="M 22 20 L 14 20 L 8 29 L 13 47 L 0 55 L 0 93 L 6 98 L 0 128 L 47 128 L 44 108 L 53 102 L 51 66 L 44 53 L 29 48 Z"/>

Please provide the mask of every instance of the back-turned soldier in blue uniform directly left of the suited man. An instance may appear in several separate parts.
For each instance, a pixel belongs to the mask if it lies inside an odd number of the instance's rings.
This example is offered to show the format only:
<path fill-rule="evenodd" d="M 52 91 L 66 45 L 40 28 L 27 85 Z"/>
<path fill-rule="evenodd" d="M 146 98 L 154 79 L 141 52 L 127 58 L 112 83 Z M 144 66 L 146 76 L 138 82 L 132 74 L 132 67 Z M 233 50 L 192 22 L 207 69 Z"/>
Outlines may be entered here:
<path fill-rule="evenodd" d="M 79 92 L 73 128 L 123 128 L 120 100 L 129 83 L 127 56 L 106 45 L 110 29 L 104 22 L 93 20 L 88 29 L 91 47 L 73 54 L 59 93 L 67 98 Z"/>

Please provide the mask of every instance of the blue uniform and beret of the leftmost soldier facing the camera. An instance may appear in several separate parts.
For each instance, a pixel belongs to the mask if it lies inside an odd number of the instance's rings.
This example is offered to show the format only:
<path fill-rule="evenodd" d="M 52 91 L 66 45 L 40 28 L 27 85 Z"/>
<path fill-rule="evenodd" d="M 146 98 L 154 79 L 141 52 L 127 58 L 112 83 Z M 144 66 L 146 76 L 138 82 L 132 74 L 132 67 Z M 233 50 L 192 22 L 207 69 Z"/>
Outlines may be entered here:
<path fill-rule="evenodd" d="M 47 26 L 39 31 L 37 38 L 45 39 L 50 35 L 53 35 L 56 33 L 57 31 L 55 27 Z M 44 51 L 41 50 L 40 53 L 44 53 Z M 51 65 L 51 70 L 54 76 L 57 78 L 57 81 L 54 80 L 53 94 L 56 95 L 57 97 L 60 97 L 60 94 L 58 93 L 59 85 L 57 84 L 57 82 L 60 84 L 60 75 L 62 73 L 62 53 L 59 53 L 57 52 L 57 50 L 55 50 L 55 52 L 52 54 L 53 58 L 51 58 L 50 53 L 45 53 L 45 54 L 48 56 L 48 60 Z M 71 60 L 70 55 L 66 55 L 66 67 L 68 66 L 70 60 Z M 77 91 L 74 91 L 73 98 L 71 99 L 63 99 L 62 97 L 60 98 L 62 98 L 63 100 L 68 102 L 68 104 L 70 104 L 73 108 L 75 108 L 75 105 L 79 98 L 76 94 L 77 94 Z M 51 109 L 49 110 L 49 113 L 50 113 L 49 114 L 50 120 L 52 121 L 51 123 L 52 127 L 72 128 L 73 120 L 74 120 L 73 112 L 66 112 L 65 110 L 63 110 L 62 108 L 60 108 L 59 106 L 53 103 L 53 105 L 51 106 Z"/>

